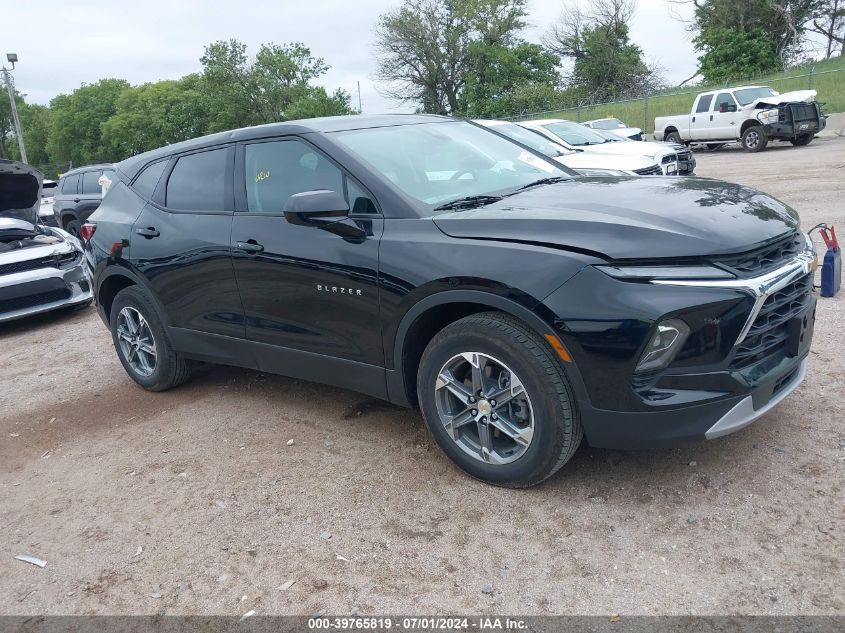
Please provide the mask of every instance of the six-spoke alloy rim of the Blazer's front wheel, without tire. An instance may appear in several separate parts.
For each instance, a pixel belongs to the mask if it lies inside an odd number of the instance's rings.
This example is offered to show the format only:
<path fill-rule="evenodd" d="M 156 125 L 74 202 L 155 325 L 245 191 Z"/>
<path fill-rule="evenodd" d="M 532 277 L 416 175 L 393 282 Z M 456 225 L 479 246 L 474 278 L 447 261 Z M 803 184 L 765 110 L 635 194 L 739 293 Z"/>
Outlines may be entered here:
<path fill-rule="evenodd" d="M 534 436 L 531 400 L 503 362 L 463 352 L 440 369 L 437 413 L 461 450 L 487 464 L 508 464 L 525 454 Z"/>

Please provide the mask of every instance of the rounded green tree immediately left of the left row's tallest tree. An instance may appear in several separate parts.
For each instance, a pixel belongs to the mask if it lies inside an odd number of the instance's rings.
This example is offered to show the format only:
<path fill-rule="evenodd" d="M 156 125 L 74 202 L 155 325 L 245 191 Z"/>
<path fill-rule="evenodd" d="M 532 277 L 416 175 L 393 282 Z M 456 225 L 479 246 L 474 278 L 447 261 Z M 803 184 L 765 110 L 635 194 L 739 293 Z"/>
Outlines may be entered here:
<path fill-rule="evenodd" d="M 110 155 L 133 156 L 202 136 L 208 119 L 199 75 L 133 86 L 121 92 L 114 115 L 103 122 L 103 144 Z"/>

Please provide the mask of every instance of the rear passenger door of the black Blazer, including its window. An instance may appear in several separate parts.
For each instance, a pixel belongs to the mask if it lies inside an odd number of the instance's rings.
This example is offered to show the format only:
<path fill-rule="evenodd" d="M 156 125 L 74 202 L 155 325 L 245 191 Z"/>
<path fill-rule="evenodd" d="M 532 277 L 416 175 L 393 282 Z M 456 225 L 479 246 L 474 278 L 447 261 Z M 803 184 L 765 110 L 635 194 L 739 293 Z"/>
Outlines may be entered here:
<path fill-rule="evenodd" d="M 249 366 L 227 358 L 224 338 L 244 336 L 229 249 L 234 156 L 231 145 L 205 149 L 136 176 L 132 187 L 153 193 L 132 227 L 129 253 L 174 328 L 177 349 Z"/>

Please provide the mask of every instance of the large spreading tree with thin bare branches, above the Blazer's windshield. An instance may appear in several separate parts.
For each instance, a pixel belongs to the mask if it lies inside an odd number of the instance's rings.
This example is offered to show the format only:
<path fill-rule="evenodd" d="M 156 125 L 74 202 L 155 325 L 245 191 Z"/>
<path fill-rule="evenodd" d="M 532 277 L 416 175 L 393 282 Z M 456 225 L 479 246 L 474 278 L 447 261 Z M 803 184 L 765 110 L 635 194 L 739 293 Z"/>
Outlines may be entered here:
<path fill-rule="evenodd" d="M 462 114 L 468 99 L 473 111 L 484 110 L 479 104 L 495 99 L 507 84 L 545 68 L 547 60 L 519 38 L 525 16 L 526 0 L 405 0 L 376 26 L 382 92 L 423 112 Z M 497 77 L 485 62 L 516 71 Z"/>

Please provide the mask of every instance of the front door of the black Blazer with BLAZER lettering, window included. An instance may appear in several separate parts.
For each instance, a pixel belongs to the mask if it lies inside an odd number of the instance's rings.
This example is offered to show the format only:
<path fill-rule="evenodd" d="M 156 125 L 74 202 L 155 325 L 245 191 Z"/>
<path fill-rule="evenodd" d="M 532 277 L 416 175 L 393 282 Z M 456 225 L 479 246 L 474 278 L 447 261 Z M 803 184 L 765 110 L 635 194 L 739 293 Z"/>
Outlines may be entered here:
<path fill-rule="evenodd" d="M 309 354 L 319 354 L 383 367 L 378 294 L 383 221 L 373 197 L 303 139 L 248 143 L 238 152 L 232 256 L 246 335 L 259 344 L 259 365 L 309 377 L 305 366 L 314 358 Z M 338 221 L 363 229 L 362 235 L 343 237 L 285 219 L 290 196 L 316 189 L 344 196 L 351 212 Z M 291 363 L 297 366 L 286 366 Z M 330 376 L 319 379 L 333 382 Z"/>

